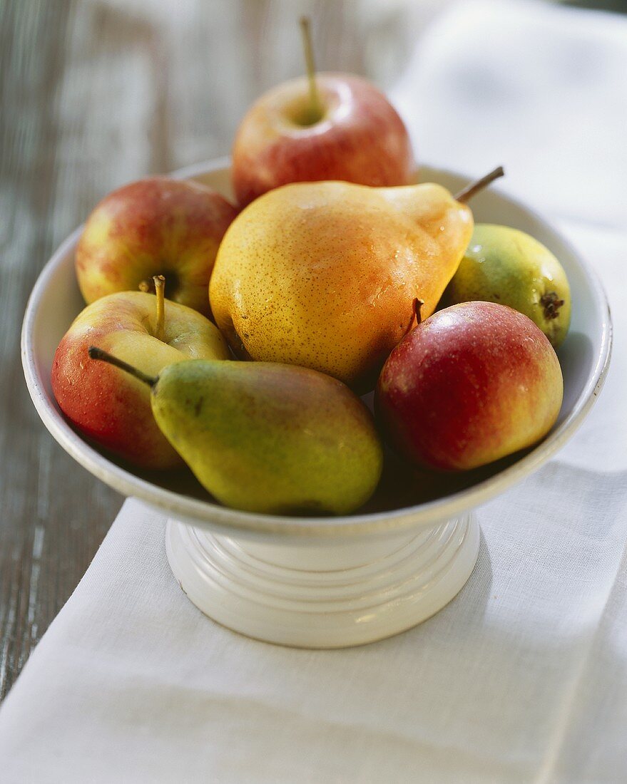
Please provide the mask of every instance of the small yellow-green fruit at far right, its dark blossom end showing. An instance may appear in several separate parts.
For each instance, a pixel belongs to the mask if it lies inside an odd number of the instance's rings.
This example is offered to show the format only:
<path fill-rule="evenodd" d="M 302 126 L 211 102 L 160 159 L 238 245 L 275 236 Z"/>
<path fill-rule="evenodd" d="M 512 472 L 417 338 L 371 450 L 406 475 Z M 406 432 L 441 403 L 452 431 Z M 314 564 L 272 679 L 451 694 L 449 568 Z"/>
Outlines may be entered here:
<path fill-rule="evenodd" d="M 476 224 L 443 305 L 481 300 L 509 305 L 534 321 L 553 347 L 570 325 L 570 286 L 562 265 L 524 231 Z"/>

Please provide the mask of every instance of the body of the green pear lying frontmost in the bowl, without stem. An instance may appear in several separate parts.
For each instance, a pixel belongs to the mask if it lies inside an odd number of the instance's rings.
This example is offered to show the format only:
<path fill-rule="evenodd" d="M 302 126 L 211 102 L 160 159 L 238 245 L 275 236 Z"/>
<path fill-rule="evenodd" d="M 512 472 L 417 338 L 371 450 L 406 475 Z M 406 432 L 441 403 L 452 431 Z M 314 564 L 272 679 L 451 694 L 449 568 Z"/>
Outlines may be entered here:
<path fill-rule="evenodd" d="M 174 366 L 173 366 L 174 367 Z M 156 422 L 221 503 L 266 514 L 349 514 L 382 470 L 370 411 L 322 373 L 195 360 L 152 387 Z"/>

